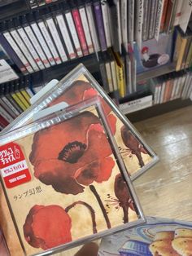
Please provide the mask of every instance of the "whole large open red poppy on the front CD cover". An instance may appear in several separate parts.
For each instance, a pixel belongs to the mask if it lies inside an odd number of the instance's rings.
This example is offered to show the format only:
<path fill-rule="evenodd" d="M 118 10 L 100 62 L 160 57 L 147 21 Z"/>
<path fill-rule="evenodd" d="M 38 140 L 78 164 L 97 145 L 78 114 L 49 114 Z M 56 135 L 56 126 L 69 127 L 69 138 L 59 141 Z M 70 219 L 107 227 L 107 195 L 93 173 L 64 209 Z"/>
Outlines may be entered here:
<path fill-rule="evenodd" d="M 57 192 L 76 195 L 84 186 L 110 178 L 115 166 L 111 154 L 98 117 L 84 112 L 38 131 L 29 160 L 42 183 Z"/>

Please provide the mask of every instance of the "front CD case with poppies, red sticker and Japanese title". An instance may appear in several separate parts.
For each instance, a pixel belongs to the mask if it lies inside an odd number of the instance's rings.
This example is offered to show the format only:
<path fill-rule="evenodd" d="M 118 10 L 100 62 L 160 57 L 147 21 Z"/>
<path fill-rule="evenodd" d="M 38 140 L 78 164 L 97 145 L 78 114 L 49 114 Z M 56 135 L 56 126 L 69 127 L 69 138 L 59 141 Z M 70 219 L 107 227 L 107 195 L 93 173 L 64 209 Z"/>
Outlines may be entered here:
<path fill-rule="evenodd" d="M 114 129 L 94 97 L 0 137 L 2 187 L 25 255 L 69 249 L 145 221 Z"/>

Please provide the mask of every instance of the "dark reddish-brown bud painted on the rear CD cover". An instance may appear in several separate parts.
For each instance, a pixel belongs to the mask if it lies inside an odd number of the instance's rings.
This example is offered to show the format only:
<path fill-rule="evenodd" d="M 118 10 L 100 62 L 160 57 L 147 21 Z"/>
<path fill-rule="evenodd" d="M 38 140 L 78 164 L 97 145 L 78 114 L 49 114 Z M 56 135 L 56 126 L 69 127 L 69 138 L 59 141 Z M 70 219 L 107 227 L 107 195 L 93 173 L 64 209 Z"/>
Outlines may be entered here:
<path fill-rule="evenodd" d="M 129 149 L 120 148 L 120 152 L 129 154 L 129 157 L 135 155 L 138 159 L 139 165 L 145 166 L 144 161 L 142 160 L 142 153 L 147 154 L 146 149 L 143 148 L 142 144 L 139 143 L 137 138 L 133 135 L 131 130 L 128 127 L 122 126 L 120 128 L 121 138 L 123 139 L 124 145 Z"/>

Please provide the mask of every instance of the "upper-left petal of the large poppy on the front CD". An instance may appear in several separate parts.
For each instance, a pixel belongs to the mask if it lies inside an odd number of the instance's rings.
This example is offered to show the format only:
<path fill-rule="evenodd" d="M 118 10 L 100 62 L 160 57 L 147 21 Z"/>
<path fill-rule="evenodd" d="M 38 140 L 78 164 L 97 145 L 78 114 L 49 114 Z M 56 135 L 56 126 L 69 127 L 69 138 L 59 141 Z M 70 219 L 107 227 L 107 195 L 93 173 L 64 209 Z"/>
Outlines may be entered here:
<path fill-rule="evenodd" d="M 33 165 L 36 161 L 57 159 L 59 152 L 74 141 L 86 143 L 86 133 L 91 124 L 97 124 L 98 117 L 84 112 L 57 126 L 38 131 L 33 137 L 32 152 L 29 159 Z"/>

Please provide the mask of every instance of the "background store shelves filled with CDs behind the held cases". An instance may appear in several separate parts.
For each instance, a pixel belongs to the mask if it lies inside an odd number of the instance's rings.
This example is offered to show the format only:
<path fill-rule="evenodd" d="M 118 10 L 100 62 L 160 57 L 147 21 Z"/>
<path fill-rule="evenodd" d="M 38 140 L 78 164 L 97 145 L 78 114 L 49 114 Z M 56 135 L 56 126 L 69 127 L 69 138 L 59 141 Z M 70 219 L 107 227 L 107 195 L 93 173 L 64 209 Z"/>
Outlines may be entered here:
<path fill-rule="evenodd" d="M 0 0 L 0 61 L 15 74 L 0 73 L 0 99 L 25 102 L 82 63 L 130 120 L 191 104 L 192 7 L 150 2 Z"/>

